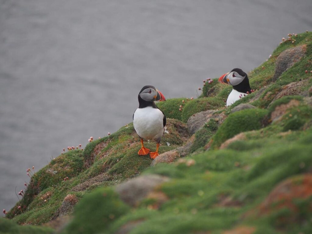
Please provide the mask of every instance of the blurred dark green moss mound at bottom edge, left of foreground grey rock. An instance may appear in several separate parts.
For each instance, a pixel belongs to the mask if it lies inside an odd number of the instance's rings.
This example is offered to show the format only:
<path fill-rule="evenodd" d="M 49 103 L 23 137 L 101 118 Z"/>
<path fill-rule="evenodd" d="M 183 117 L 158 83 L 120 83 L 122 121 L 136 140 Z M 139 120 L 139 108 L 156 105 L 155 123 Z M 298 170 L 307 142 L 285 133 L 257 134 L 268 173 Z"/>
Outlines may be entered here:
<path fill-rule="evenodd" d="M 129 207 L 112 189 L 99 188 L 81 199 L 63 233 L 107 233 L 111 223 L 127 212 Z"/>

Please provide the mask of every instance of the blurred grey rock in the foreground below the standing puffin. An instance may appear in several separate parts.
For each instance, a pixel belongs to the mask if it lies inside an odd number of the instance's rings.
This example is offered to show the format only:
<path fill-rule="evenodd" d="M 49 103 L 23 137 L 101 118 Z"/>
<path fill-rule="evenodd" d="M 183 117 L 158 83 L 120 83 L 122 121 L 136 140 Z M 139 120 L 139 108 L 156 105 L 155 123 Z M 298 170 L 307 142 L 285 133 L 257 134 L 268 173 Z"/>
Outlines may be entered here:
<path fill-rule="evenodd" d="M 136 206 L 156 186 L 168 180 L 168 177 L 153 174 L 139 176 L 117 185 L 115 191 L 125 203 Z"/>

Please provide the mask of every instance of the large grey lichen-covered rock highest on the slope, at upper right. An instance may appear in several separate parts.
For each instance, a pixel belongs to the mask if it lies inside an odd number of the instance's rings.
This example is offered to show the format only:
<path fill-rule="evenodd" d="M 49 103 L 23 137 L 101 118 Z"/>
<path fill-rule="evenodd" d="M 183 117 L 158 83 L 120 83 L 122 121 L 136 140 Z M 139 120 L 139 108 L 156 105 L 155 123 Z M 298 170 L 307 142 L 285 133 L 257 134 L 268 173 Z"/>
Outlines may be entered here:
<path fill-rule="evenodd" d="M 300 61 L 306 51 L 307 45 L 302 45 L 281 52 L 276 60 L 273 81 L 277 80 L 284 71 Z"/>

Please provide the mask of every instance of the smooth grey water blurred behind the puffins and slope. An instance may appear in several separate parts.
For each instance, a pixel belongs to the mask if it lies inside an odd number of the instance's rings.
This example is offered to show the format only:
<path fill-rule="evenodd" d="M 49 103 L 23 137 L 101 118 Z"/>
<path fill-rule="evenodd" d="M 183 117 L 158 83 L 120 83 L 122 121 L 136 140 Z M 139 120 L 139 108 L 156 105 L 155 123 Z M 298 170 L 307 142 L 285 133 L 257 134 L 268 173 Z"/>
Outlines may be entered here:
<path fill-rule="evenodd" d="M 311 0 L 0 0 L 0 208 L 67 146 L 132 121 L 137 95 L 197 97 L 202 80 L 250 71 Z"/>

